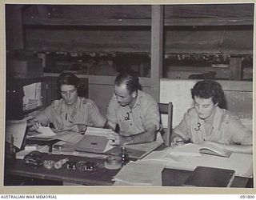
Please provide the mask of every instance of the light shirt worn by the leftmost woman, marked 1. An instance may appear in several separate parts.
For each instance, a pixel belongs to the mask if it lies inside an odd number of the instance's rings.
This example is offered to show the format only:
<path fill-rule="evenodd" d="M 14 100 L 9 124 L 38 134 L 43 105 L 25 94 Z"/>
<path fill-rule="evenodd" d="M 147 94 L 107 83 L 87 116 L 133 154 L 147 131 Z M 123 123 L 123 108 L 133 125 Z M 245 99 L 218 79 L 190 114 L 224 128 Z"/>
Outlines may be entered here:
<path fill-rule="evenodd" d="M 66 128 L 70 123 L 96 127 L 103 127 L 106 123 L 106 118 L 100 114 L 95 102 L 82 97 L 78 97 L 71 114 L 67 110 L 64 99 L 60 99 L 55 100 L 45 110 L 42 110 L 38 118 L 45 123 L 53 123 L 56 129 Z"/>

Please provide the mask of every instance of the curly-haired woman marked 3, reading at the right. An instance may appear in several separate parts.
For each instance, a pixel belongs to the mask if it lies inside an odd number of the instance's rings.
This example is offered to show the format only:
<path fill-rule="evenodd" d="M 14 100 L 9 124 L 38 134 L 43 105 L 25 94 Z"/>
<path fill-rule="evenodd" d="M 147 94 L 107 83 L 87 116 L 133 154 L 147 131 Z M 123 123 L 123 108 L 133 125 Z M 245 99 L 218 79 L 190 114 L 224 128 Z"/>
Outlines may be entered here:
<path fill-rule="evenodd" d="M 191 94 L 194 107 L 187 110 L 182 122 L 174 128 L 172 146 L 179 142 L 209 141 L 226 150 L 252 153 L 252 131 L 243 126 L 238 117 L 220 108 L 224 92 L 218 82 L 197 82 Z"/>

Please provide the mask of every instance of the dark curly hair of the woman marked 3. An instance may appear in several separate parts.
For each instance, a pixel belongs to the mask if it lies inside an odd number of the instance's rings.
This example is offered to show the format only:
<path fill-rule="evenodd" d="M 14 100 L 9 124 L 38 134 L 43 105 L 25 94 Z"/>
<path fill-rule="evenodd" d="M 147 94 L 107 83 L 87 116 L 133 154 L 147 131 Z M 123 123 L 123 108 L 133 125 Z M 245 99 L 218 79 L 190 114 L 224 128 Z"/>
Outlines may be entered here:
<path fill-rule="evenodd" d="M 221 108 L 226 108 L 226 100 L 222 86 L 213 80 L 197 82 L 191 89 L 192 98 L 212 98 L 214 104 L 218 103 Z"/>

